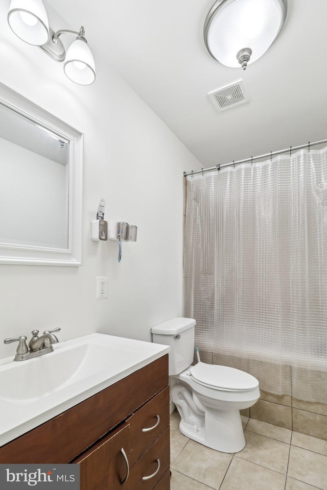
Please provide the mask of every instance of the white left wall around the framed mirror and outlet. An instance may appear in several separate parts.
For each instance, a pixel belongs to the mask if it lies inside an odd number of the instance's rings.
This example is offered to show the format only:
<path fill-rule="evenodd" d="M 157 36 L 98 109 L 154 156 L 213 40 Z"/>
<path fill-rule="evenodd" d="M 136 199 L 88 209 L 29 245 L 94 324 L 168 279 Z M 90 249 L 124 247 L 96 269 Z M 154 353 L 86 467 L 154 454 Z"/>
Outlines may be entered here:
<path fill-rule="evenodd" d="M 1 81 L 85 133 L 83 265 L 0 265 L 1 338 L 61 327 L 66 340 L 91 332 L 150 340 L 150 328 L 182 313 L 182 171 L 201 167 L 167 126 L 95 53 L 97 80 L 70 82 L 62 66 L 20 41 L 0 4 Z M 52 29 L 64 26 L 45 4 Z M 136 243 L 92 242 L 99 197 L 107 219 L 138 227 Z M 96 276 L 109 297 L 95 299 Z"/>

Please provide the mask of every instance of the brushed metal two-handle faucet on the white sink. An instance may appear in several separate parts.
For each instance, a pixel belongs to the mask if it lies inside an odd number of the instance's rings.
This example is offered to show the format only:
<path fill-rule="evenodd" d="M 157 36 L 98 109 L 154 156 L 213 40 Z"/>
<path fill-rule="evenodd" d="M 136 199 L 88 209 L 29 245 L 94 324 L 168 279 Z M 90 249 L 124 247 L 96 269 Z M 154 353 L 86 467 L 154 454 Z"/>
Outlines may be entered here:
<path fill-rule="evenodd" d="M 11 344 L 11 342 L 18 341 L 18 347 L 14 361 L 25 361 L 26 359 L 32 359 L 33 357 L 43 356 L 48 352 L 53 351 L 52 344 L 57 344 L 59 340 L 53 332 L 60 332 L 61 328 L 57 327 L 54 330 L 45 330 L 43 335 L 38 336 L 39 331 L 33 330 L 33 337 L 29 341 L 29 348 L 26 345 L 27 337 L 21 335 L 17 338 L 6 338 L 5 344 Z"/>

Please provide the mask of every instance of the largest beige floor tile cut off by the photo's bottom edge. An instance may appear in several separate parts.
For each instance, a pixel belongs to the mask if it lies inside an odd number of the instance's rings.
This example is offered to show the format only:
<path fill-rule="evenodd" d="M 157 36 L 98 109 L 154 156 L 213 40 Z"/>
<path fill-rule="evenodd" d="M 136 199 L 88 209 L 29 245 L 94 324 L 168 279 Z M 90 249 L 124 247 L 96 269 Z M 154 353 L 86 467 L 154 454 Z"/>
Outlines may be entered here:
<path fill-rule="evenodd" d="M 285 475 L 234 457 L 220 490 L 284 490 Z"/>

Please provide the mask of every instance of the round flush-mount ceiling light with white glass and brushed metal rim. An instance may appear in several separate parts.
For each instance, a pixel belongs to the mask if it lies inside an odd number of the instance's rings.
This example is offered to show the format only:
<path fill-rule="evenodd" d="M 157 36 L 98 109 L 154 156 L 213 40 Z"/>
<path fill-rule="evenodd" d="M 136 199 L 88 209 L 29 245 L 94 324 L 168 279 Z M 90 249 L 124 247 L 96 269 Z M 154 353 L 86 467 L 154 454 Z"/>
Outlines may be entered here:
<path fill-rule="evenodd" d="M 204 23 L 204 42 L 219 63 L 231 68 L 258 60 L 277 39 L 287 0 L 218 0 Z"/>

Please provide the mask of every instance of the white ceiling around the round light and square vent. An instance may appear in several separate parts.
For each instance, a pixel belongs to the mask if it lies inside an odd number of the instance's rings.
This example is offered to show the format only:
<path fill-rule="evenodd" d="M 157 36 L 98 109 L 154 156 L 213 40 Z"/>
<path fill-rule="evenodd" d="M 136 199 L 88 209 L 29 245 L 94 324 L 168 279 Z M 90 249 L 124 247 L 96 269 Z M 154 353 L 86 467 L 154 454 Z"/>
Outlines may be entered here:
<path fill-rule="evenodd" d="M 327 138 L 325 0 L 288 0 L 281 34 L 246 71 L 206 51 L 214 0 L 48 3 L 74 29 L 83 24 L 96 63 L 118 71 L 203 167 Z M 238 80 L 250 101 L 217 111 L 208 92 Z"/>

